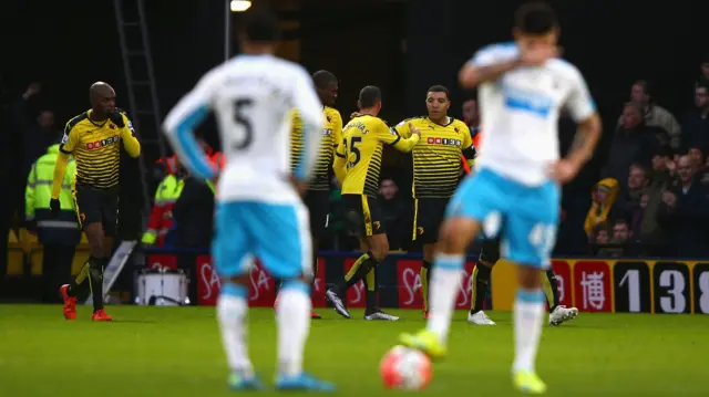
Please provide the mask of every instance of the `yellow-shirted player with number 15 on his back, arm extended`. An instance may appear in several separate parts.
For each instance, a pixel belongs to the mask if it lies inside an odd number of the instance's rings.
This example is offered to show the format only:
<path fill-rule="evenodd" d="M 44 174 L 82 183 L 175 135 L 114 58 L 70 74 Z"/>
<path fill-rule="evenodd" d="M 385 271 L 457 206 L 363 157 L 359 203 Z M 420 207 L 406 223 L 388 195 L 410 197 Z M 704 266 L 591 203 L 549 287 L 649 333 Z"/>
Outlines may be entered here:
<path fill-rule="evenodd" d="M 395 129 L 377 117 L 381 111 L 381 91 L 368 85 L 359 93 L 359 113 L 345 128 L 342 142 L 335 153 L 335 174 L 342 184 L 345 221 L 350 232 L 359 238 L 362 254 L 342 282 L 326 292 L 335 310 L 350 318 L 342 302 L 342 294 L 360 280 L 367 284 L 364 320 L 399 320 L 379 309 L 377 296 L 377 265 L 389 254 L 389 241 L 384 234 L 382 215 L 377 202 L 379 173 L 384 145 L 400 152 L 411 152 L 419 143 L 419 130 L 411 127 L 411 136 L 402 138 Z"/>

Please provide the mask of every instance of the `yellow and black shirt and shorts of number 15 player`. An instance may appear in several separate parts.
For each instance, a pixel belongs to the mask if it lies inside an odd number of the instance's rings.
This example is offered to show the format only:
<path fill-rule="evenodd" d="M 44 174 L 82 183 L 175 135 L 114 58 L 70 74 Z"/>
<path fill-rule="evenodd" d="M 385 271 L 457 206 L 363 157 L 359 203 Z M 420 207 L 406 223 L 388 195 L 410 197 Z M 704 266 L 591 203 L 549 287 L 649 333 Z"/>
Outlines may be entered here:
<path fill-rule="evenodd" d="M 418 143 L 418 135 L 402 138 L 395 129 L 370 115 L 357 116 L 342 128 L 342 142 L 335 153 L 333 168 L 342 184 L 345 220 L 354 236 L 384 232 L 377 202 L 384 145 L 408 153 Z"/>

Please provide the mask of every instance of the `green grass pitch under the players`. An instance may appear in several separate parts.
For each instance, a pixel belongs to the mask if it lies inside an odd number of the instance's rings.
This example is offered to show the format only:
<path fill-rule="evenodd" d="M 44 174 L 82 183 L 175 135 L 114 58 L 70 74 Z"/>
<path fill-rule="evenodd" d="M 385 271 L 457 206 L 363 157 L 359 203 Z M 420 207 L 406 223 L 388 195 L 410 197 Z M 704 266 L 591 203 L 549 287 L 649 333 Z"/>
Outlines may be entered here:
<path fill-rule="evenodd" d="M 109 306 L 113 323 L 90 309 L 64 321 L 61 306 L 0 305 L 0 396 L 229 396 L 214 307 Z M 333 380 L 341 396 L 392 395 L 379 361 L 400 332 L 423 325 L 418 311 L 392 311 L 398 323 L 346 321 L 330 310 L 315 321 L 306 368 Z M 510 379 L 510 313 L 495 327 L 455 314 L 450 356 L 434 365 L 424 395 L 516 396 Z M 276 324 L 269 309 L 249 312 L 250 356 L 269 389 Z M 538 373 L 548 396 L 707 396 L 709 316 L 582 313 L 545 326 Z"/>

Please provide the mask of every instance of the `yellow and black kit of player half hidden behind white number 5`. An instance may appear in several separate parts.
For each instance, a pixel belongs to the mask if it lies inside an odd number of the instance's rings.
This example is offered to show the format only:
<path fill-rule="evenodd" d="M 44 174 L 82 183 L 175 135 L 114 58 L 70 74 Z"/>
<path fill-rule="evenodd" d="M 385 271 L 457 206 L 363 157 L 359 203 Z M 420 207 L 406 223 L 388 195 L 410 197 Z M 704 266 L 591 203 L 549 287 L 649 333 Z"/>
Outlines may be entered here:
<path fill-rule="evenodd" d="M 322 114 L 325 127 L 322 128 L 320 149 L 315 163 L 312 178 L 308 181 L 308 190 L 302 198 L 310 213 L 310 232 L 316 239 L 320 239 L 327 228 L 328 213 L 330 212 L 332 163 L 337 145 L 342 140 L 342 117 L 340 112 L 325 106 Z M 295 171 L 302 159 L 304 149 L 302 121 L 298 112 L 292 112 L 291 122 L 290 170 Z"/>

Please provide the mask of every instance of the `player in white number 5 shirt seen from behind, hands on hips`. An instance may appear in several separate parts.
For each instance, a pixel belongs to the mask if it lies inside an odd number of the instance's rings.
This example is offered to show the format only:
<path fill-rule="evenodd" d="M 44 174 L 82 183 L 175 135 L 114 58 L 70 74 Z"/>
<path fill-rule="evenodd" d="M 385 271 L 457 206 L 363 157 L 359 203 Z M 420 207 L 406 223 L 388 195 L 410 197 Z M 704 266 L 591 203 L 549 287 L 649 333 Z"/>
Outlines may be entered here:
<path fill-rule="evenodd" d="M 192 175 L 212 179 L 194 128 L 214 109 L 226 165 L 219 176 L 213 258 L 224 279 L 217 320 L 230 368 L 229 386 L 257 389 L 246 346 L 249 270 L 257 257 L 284 280 L 279 292 L 277 389 L 331 390 L 333 385 L 302 370 L 310 328 L 312 276 L 305 189 L 320 148 L 322 104 L 312 80 L 291 62 L 274 56 L 278 20 L 251 8 L 240 24 L 244 55 L 208 72 L 173 108 L 165 132 Z M 302 117 L 304 158 L 289 173 L 290 113 Z M 292 182 L 292 184 L 291 184 Z"/>

